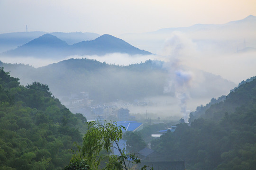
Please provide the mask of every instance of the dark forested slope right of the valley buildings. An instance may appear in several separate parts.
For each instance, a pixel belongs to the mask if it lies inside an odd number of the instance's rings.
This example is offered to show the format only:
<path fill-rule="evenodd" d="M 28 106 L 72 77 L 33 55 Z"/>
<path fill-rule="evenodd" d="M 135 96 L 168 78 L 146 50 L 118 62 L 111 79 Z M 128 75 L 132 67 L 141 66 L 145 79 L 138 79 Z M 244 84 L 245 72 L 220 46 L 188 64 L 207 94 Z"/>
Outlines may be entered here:
<path fill-rule="evenodd" d="M 187 169 L 253 170 L 256 167 L 256 80 L 212 104 L 191 126 L 177 125 L 151 147 Z"/>

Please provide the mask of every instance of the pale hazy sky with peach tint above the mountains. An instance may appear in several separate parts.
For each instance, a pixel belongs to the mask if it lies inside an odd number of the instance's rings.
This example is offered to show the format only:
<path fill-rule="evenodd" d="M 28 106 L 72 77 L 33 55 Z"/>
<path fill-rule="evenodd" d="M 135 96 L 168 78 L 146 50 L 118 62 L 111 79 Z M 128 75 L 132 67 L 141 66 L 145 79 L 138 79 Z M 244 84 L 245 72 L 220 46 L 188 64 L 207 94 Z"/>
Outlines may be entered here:
<path fill-rule="evenodd" d="M 256 0 L 0 0 L 0 34 L 93 32 L 119 35 L 256 16 Z"/>

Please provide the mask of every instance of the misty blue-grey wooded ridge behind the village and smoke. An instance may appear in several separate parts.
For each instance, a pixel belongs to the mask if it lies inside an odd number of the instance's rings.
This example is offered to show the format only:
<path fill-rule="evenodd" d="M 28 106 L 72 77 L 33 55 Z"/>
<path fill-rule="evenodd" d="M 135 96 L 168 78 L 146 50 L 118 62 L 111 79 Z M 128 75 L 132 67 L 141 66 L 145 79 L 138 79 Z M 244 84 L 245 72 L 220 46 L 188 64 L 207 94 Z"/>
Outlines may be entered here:
<path fill-rule="evenodd" d="M 95 59 L 67 59 L 44 67 L 34 68 L 23 64 L 8 64 L 0 61 L 11 76 L 19 77 L 22 85 L 34 81 L 51 87 L 51 92 L 61 99 L 72 93 L 88 92 L 95 103 L 118 100 L 134 101 L 146 97 L 170 95 L 175 89 L 165 93 L 166 86 L 174 77 L 166 66 L 158 60 L 119 66 L 99 62 Z M 212 98 L 227 93 L 236 85 L 220 76 L 201 70 L 194 72 L 190 96 L 192 98 Z"/>

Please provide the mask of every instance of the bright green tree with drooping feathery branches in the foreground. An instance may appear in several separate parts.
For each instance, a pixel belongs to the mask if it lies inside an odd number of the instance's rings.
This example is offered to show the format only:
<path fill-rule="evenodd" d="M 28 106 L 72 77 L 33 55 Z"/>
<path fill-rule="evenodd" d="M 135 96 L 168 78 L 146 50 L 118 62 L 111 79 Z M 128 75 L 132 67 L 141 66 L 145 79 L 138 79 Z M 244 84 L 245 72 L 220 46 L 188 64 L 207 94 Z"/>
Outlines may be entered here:
<path fill-rule="evenodd" d="M 122 128 L 114 122 L 91 121 L 88 123 L 88 131 L 84 135 L 82 147 L 78 146 L 79 152 L 73 155 L 69 166 L 65 170 L 97 170 L 102 161 L 107 161 L 104 170 L 128 170 L 131 163 L 140 163 L 140 159 L 134 154 L 125 154 L 119 147 L 122 138 Z M 119 155 L 104 154 L 111 148 L 119 151 Z M 80 166 L 81 165 L 81 166 Z"/>

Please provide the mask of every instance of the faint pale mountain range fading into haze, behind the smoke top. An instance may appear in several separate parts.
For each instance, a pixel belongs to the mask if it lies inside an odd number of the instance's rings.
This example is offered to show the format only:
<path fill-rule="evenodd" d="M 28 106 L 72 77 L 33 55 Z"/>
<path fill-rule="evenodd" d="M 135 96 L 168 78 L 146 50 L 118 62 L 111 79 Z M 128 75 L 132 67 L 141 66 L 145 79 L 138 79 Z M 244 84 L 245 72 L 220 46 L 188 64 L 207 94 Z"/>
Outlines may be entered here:
<path fill-rule="evenodd" d="M 188 27 L 163 28 L 148 33 L 122 34 L 120 38 L 138 48 L 161 53 L 166 40 L 177 32 L 194 42 L 200 51 L 237 52 L 256 48 L 256 16 L 226 24 L 196 24 Z"/>

